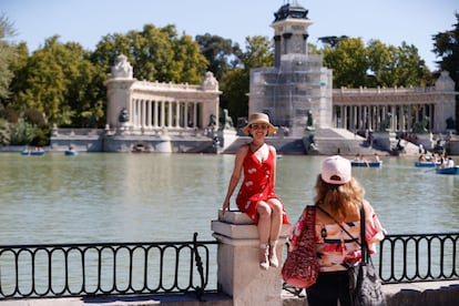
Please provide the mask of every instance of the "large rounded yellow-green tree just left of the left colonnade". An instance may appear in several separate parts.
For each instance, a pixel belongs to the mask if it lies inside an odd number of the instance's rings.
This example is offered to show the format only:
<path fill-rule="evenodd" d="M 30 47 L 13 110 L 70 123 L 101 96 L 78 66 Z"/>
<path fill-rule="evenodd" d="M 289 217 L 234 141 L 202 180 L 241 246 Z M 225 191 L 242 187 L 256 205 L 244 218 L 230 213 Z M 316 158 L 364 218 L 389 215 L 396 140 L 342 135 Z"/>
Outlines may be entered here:
<path fill-rule="evenodd" d="M 18 63 L 12 83 L 14 94 L 10 108 L 18 112 L 38 112 L 29 122 L 47 129 L 59 126 L 88 126 L 91 120 L 104 116 L 105 91 L 100 70 L 89 60 L 90 53 L 75 42 L 62 44 L 54 35 L 35 51 L 26 63 Z M 44 122 L 32 119 L 43 118 Z"/>

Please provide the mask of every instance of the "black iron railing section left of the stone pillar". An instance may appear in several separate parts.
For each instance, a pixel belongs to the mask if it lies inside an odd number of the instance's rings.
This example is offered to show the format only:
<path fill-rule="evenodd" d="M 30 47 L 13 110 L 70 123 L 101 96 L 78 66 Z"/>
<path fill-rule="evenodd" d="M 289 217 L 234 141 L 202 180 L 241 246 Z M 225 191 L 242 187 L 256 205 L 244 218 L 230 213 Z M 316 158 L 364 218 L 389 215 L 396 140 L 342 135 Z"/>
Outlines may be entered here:
<path fill-rule="evenodd" d="M 216 241 L 0 246 L 0 298 L 178 294 L 200 298 Z M 216 280 L 211 280 L 216 284 Z"/>

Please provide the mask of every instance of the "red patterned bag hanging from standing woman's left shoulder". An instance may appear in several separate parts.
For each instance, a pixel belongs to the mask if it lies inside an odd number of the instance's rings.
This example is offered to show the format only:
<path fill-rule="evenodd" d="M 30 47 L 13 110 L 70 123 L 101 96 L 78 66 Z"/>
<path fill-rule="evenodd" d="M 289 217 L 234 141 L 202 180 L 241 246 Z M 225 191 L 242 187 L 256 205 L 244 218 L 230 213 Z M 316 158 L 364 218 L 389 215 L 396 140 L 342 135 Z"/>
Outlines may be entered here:
<path fill-rule="evenodd" d="M 305 226 L 282 267 L 284 282 L 296 288 L 307 288 L 314 285 L 319 273 L 314 239 L 316 207 L 308 205 L 305 210 Z"/>

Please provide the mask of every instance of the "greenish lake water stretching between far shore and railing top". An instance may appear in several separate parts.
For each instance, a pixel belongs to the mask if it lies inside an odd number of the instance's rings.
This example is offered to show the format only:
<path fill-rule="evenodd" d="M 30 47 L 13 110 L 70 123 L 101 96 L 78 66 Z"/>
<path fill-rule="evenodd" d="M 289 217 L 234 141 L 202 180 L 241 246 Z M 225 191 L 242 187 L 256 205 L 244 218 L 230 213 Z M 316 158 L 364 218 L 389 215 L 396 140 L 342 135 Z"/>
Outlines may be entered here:
<path fill-rule="evenodd" d="M 0 154 L 0 244 L 213 239 L 235 155 Z M 284 156 L 276 192 L 295 222 L 324 156 Z M 353 169 L 391 234 L 459 231 L 459 176 L 382 157 Z M 234 198 L 232 208 L 235 208 Z"/>

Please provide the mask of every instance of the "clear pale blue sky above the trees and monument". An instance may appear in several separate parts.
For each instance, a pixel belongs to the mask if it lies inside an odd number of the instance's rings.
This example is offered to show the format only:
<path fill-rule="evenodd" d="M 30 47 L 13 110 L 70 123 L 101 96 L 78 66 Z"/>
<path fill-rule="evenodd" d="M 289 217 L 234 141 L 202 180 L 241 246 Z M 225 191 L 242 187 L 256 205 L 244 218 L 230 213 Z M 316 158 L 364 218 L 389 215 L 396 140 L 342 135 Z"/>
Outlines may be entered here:
<path fill-rule="evenodd" d="M 439 59 L 432 35 L 453 29 L 457 0 L 0 0 L 0 16 L 13 23 L 13 42 L 26 41 L 32 52 L 55 34 L 94 50 L 106 34 L 141 31 L 144 24 L 174 24 L 180 35 L 210 33 L 245 47 L 245 38 L 272 38 L 276 12 L 285 3 L 307 9 L 308 42 L 326 35 L 379 39 L 386 45 L 402 41 L 418 48 L 431 70 Z"/>

